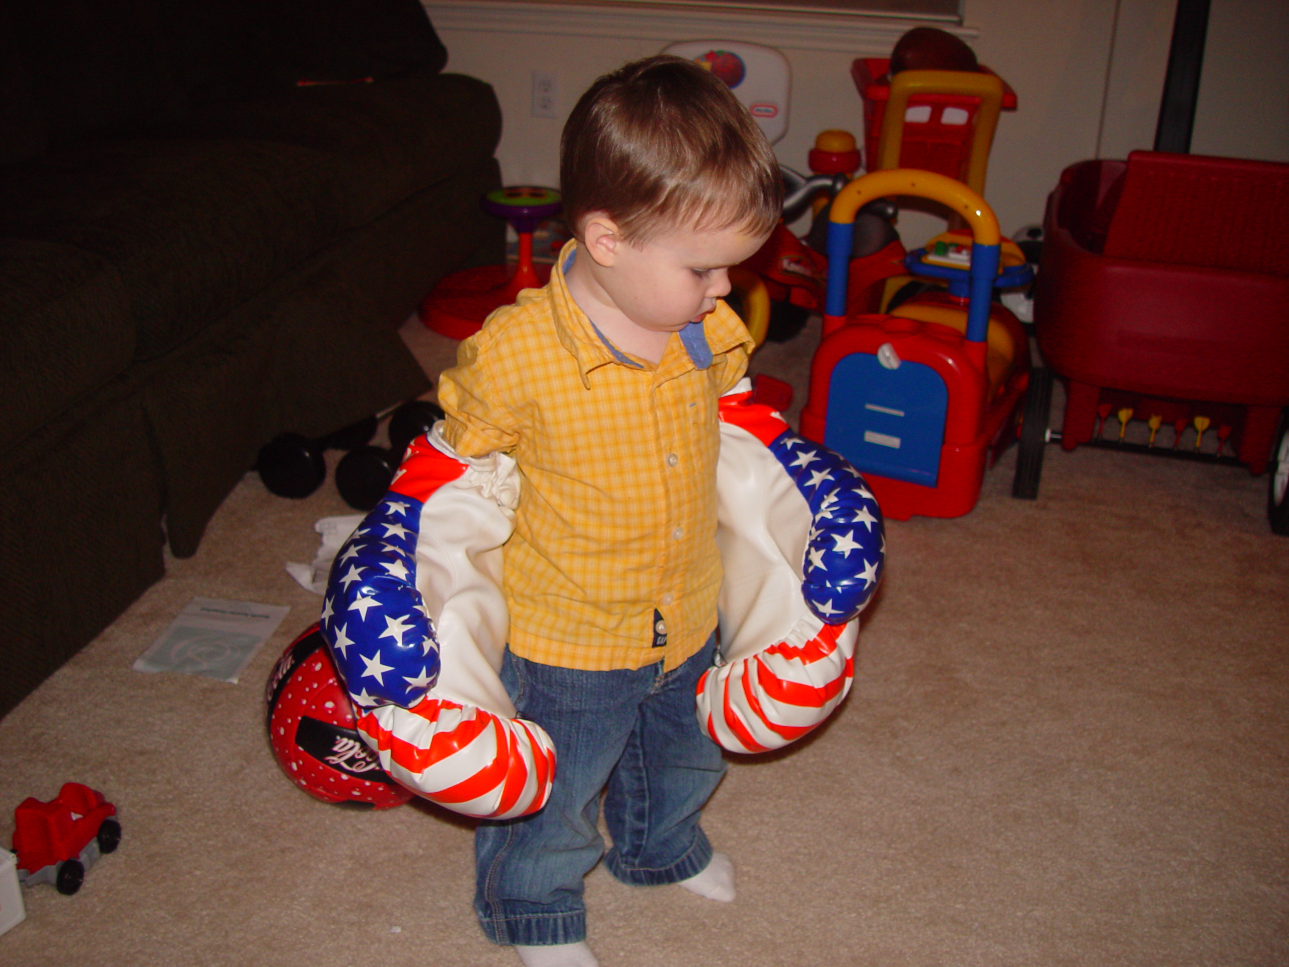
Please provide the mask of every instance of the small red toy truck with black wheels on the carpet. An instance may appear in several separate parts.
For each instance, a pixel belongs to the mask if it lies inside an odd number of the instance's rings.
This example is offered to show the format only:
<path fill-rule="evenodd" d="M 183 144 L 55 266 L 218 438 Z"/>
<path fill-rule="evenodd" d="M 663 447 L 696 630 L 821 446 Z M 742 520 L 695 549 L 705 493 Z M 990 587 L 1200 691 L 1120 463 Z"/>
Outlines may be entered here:
<path fill-rule="evenodd" d="M 94 860 L 121 842 L 116 807 L 80 783 L 63 784 L 49 802 L 23 799 L 13 817 L 18 879 L 26 886 L 53 883 L 67 896 L 80 890 Z"/>

